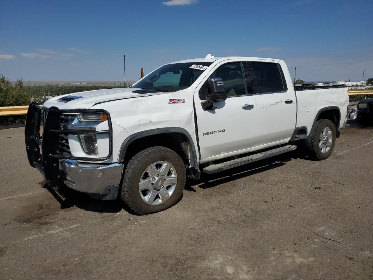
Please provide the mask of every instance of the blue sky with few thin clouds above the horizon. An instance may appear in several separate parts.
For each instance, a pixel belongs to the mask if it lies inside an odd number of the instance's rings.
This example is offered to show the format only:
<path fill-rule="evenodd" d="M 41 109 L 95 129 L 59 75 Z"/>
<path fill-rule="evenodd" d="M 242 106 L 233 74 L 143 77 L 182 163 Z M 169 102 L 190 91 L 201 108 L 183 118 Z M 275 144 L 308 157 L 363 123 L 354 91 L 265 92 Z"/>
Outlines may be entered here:
<path fill-rule="evenodd" d="M 3 0 L 10 80 L 138 80 L 181 59 L 283 59 L 297 79 L 373 77 L 372 0 Z M 317 65 L 317 66 L 315 66 Z"/>

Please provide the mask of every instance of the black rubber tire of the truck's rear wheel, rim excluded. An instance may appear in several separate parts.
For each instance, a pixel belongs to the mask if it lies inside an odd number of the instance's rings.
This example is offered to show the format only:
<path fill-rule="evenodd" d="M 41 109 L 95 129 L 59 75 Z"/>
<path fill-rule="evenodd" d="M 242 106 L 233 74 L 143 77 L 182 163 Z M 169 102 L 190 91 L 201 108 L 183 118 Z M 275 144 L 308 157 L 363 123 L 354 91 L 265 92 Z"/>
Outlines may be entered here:
<path fill-rule="evenodd" d="M 329 151 L 323 153 L 320 149 L 319 142 L 320 134 L 326 127 L 329 127 L 332 130 L 333 138 Z M 329 156 L 332 154 L 335 145 L 335 137 L 336 129 L 333 122 L 329 119 L 319 119 L 318 121 L 316 121 L 313 131 L 311 132 L 310 141 L 307 141 L 306 147 L 310 151 L 310 154 L 314 159 L 318 161 L 323 161 L 324 159 L 329 158 Z"/>

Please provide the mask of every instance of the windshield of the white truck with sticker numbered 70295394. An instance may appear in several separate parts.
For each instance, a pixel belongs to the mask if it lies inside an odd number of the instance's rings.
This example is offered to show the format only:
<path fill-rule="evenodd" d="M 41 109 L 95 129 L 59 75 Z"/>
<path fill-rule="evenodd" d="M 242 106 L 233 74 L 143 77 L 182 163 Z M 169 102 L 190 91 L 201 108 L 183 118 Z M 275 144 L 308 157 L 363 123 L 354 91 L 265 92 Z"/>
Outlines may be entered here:
<path fill-rule="evenodd" d="M 190 87 L 212 62 L 185 62 L 166 64 L 134 84 L 133 88 L 146 88 L 165 92 Z"/>

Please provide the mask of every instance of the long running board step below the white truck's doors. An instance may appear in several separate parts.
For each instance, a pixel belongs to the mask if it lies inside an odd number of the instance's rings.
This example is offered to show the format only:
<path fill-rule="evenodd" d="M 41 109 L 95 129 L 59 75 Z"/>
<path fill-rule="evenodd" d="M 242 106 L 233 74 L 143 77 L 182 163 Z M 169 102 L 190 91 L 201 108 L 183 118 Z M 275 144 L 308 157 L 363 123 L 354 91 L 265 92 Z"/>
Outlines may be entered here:
<path fill-rule="evenodd" d="M 233 167 L 238 167 L 244 164 L 248 164 L 254 161 L 260 161 L 261 159 L 270 158 L 271 156 L 277 156 L 282 153 L 294 151 L 297 149 L 295 145 L 287 145 L 283 147 L 279 147 L 273 150 L 267 150 L 265 152 L 256 153 L 254 155 L 245 156 L 243 158 L 232 159 L 231 161 L 222 162 L 220 164 L 211 164 L 205 168 L 203 168 L 203 172 L 207 174 L 213 174 L 217 172 L 222 172 L 227 169 L 231 169 Z"/>

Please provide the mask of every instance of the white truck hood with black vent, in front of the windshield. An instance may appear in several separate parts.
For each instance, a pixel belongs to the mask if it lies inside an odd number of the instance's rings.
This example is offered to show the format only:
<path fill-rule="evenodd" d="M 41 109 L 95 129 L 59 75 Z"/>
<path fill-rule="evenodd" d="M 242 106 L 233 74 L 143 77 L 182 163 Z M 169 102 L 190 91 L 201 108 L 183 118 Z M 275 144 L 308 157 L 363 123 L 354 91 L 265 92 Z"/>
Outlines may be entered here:
<path fill-rule="evenodd" d="M 142 92 L 133 92 L 133 91 Z M 144 97 L 150 95 L 166 94 L 163 92 L 144 91 L 140 88 L 108 88 L 104 90 L 81 91 L 77 93 L 55 96 L 44 102 L 44 107 L 57 107 L 59 109 L 90 109 L 94 105 L 101 103 Z"/>

